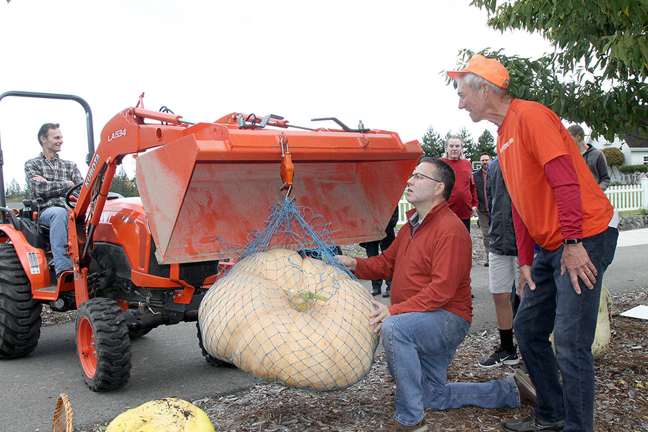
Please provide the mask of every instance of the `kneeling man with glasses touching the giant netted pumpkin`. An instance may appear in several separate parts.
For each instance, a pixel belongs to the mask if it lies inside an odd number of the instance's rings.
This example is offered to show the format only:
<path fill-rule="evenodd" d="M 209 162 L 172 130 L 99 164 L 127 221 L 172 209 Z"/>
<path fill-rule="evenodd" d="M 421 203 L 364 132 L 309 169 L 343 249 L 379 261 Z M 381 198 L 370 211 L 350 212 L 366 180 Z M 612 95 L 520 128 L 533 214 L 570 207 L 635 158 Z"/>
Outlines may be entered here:
<path fill-rule="evenodd" d="M 395 422 L 378 431 L 427 431 L 425 409 L 535 402 L 521 370 L 502 381 L 446 383 L 446 369 L 472 319 L 472 242 L 446 202 L 454 180 L 450 165 L 424 157 L 408 180 L 414 209 L 393 244 L 371 258 L 338 255 L 358 279 L 393 278 L 391 306 L 373 301 L 377 309 L 370 314 L 396 383 Z"/>

